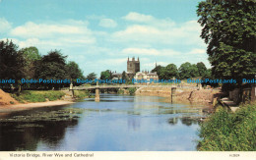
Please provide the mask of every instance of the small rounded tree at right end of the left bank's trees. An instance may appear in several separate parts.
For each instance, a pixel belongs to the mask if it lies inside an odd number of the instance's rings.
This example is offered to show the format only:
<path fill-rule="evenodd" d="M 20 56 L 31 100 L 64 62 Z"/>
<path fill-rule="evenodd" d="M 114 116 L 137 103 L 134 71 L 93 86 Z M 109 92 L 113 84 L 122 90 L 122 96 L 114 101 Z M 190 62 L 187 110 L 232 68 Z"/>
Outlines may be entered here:
<path fill-rule="evenodd" d="M 70 61 L 67 64 L 67 71 L 71 80 L 85 79 L 82 70 L 79 68 L 79 65 L 74 61 Z"/>

